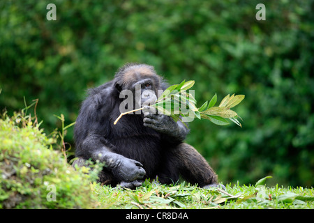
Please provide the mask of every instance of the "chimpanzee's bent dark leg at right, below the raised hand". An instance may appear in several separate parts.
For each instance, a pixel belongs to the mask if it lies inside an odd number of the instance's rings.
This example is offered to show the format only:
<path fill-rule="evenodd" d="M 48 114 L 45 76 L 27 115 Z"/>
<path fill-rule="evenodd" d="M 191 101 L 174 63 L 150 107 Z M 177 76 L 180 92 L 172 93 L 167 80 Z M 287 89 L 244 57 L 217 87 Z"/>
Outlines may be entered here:
<path fill-rule="evenodd" d="M 207 161 L 193 146 L 179 144 L 177 148 L 164 151 L 158 173 L 160 183 L 176 183 L 179 176 L 199 187 L 217 186 L 217 176 Z"/>

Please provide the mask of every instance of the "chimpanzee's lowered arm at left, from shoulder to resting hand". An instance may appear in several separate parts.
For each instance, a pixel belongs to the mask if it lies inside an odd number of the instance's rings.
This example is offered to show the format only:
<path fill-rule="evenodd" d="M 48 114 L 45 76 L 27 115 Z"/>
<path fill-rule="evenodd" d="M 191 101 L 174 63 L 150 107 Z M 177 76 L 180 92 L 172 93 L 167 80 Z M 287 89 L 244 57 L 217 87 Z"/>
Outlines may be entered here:
<path fill-rule="evenodd" d="M 108 116 L 114 111 L 110 107 L 114 105 L 110 100 L 114 100 L 110 91 L 103 88 L 91 92 L 89 98 L 83 102 L 75 124 L 75 155 L 105 162 L 105 167 L 112 170 L 114 176 L 120 180 L 130 182 L 142 179 L 145 175 L 142 164 L 114 153 L 114 146 L 106 140 L 110 132 Z"/>

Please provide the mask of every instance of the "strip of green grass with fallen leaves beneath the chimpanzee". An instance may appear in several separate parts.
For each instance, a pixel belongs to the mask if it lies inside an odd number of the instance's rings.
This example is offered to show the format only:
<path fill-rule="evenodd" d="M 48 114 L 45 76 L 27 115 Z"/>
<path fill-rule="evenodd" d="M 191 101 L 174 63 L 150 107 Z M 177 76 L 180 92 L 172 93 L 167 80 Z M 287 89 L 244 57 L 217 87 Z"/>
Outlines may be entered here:
<path fill-rule="evenodd" d="M 94 183 L 98 208 L 110 209 L 306 209 L 314 208 L 313 188 L 226 185 L 226 190 L 202 189 L 181 183 L 158 185 L 145 181 L 136 190 Z"/>

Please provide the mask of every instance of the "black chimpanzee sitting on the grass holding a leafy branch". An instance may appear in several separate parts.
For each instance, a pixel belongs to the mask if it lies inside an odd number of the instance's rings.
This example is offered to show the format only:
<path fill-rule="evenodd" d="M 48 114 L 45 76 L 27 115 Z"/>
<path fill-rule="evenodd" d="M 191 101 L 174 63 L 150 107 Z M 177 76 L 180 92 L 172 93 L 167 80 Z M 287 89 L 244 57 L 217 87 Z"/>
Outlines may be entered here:
<path fill-rule="evenodd" d="M 141 93 L 150 92 L 142 94 L 143 104 L 156 99 L 157 91 L 165 90 L 168 84 L 153 66 L 127 63 L 112 81 L 89 90 L 75 124 L 78 159 L 73 165 L 82 166 L 90 158 L 105 162 L 99 174 L 105 185 L 134 188 L 147 178 L 157 177 L 159 183 L 170 184 L 181 177 L 200 187 L 216 187 L 213 169 L 193 146 L 184 143 L 188 128 L 181 121 L 155 114 L 146 106 L 144 112 L 124 115 L 114 125 L 125 100 L 121 92 L 127 89 L 135 95 L 136 86 Z M 138 99 L 134 97 L 135 103 Z"/>

